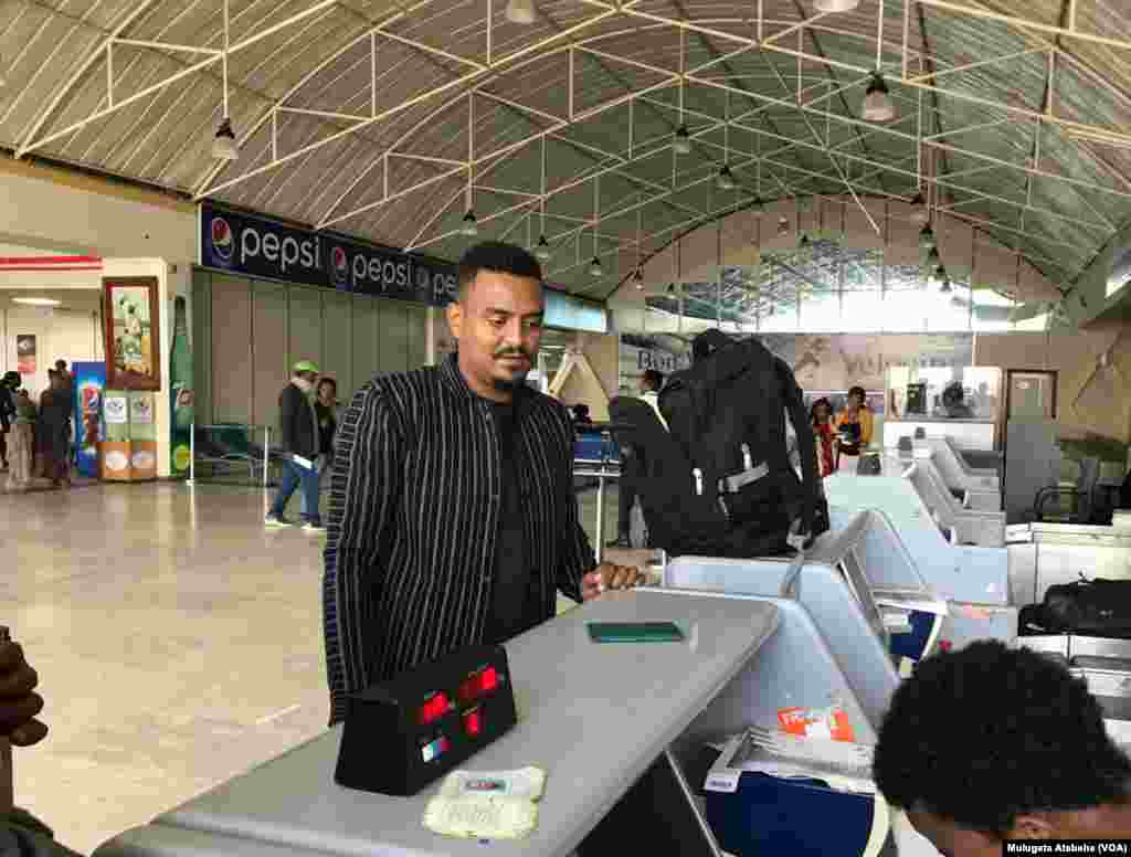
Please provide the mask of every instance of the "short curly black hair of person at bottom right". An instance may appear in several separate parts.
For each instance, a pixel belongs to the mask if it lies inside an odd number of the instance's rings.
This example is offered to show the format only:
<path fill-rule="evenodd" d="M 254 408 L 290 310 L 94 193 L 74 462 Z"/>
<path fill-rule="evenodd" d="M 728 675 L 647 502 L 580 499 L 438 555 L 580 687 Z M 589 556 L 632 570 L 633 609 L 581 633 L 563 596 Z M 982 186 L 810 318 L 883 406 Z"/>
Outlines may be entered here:
<path fill-rule="evenodd" d="M 1001 836 L 1018 815 L 1122 802 L 1131 761 L 1083 679 L 1029 649 L 975 642 L 923 660 L 875 747 L 888 803 Z"/>

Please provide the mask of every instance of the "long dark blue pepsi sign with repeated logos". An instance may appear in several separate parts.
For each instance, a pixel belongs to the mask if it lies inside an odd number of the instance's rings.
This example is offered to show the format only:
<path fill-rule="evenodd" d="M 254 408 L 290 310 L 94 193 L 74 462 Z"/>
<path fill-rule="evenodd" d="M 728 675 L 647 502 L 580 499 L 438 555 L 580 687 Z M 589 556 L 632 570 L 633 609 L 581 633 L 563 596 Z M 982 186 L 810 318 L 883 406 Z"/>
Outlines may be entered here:
<path fill-rule="evenodd" d="M 252 277 L 443 306 L 456 297 L 456 267 L 266 217 L 200 206 L 200 263 Z"/>

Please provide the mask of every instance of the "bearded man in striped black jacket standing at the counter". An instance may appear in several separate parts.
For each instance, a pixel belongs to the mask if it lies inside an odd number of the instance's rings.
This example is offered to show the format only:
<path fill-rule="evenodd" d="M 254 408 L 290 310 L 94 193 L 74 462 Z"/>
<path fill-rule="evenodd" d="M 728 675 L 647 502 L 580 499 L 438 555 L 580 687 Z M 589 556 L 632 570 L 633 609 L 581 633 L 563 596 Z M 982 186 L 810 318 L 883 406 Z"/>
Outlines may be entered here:
<path fill-rule="evenodd" d="M 458 352 L 374 379 L 338 428 L 323 579 L 330 724 L 347 695 L 573 600 L 636 585 L 596 566 L 573 495 L 566 407 L 526 384 L 542 336 L 542 269 L 470 248 L 448 306 Z"/>

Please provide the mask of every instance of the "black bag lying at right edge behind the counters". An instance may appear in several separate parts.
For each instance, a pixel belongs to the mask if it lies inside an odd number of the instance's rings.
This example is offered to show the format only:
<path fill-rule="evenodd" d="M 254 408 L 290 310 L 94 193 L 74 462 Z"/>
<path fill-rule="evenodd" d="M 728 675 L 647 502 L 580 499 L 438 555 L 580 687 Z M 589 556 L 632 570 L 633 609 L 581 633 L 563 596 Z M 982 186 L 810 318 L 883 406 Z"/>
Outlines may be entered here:
<path fill-rule="evenodd" d="M 1048 587 L 1018 617 L 1022 632 L 1131 640 L 1131 580 L 1078 580 Z"/>

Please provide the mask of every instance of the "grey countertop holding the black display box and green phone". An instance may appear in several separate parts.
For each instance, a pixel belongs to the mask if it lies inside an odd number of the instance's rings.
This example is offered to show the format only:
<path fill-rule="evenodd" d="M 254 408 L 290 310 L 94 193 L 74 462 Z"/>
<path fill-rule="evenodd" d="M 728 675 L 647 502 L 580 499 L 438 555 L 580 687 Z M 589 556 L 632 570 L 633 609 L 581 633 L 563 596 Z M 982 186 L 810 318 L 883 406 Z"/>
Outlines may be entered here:
<path fill-rule="evenodd" d="M 598 644 L 586 623 L 674 621 L 681 643 Z M 493 857 L 564 857 L 726 689 L 778 624 L 767 601 L 610 592 L 507 643 L 519 722 L 468 770 L 546 771 L 538 828 Z M 435 784 L 415 797 L 334 782 L 340 728 L 103 845 L 97 857 L 424 857 L 484 854 L 422 824 Z"/>

